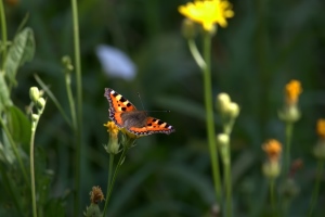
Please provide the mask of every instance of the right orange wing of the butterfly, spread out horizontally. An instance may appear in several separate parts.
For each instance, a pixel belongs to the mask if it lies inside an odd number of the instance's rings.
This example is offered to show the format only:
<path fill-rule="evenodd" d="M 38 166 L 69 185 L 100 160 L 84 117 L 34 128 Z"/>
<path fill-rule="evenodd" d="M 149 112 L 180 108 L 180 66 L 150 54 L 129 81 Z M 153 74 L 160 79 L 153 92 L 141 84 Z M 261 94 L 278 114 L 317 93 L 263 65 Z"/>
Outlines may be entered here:
<path fill-rule="evenodd" d="M 128 130 L 134 135 L 147 136 L 152 133 L 169 135 L 174 131 L 174 128 L 160 119 L 147 117 L 145 127 L 130 127 Z"/>

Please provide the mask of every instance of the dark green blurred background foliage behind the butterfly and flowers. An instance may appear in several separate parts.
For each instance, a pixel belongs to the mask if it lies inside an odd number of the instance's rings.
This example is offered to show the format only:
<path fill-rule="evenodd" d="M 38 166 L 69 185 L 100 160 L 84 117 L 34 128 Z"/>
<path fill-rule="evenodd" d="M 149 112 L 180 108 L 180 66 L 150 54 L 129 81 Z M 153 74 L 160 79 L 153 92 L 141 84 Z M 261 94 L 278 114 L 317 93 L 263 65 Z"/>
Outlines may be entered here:
<path fill-rule="evenodd" d="M 61 58 L 73 55 L 70 2 L 4 2 L 8 38 L 14 38 L 29 14 L 26 26 L 34 30 L 36 42 L 34 60 L 18 71 L 12 101 L 21 110 L 29 104 L 28 90 L 38 86 L 34 78 L 38 74 L 68 110 Z M 209 216 L 214 199 L 203 78 L 180 34 L 182 16 L 177 11 L 185 2 L 78 2 L 84 122 L 81 207 L 86 208 L 92 186 L 100 186 L 106 192 L 108 155 L 103 148 L 107 142 L 103 124 L 108 119 L 108 103 L 103 94 L 104 88 L 109 87 L 139 108 L 136 92 L 141 93 L 145 110 L 172 111 L 153 115 L 173 125 L 177 131 L 142 138 L 129 151 L 117 177 L 108 215 Z M 289 215 L 306 216 L 316 168 L 311 155 L 316 142 L 315 123 L 325 116 L 325 2 L 233 0 L 232 3 L 235 16 L 227 28 L 219 28 L 212 42 L 212 87 L 213 95 L 227 92 L 240 106 L 232 135 L 234 216 L 266 216 L 261 144 L 269 138 L 284 141 L 284 124 L 278 120 L 277 111 L 283 105 L 284 86 L 294 78 L 301 81 L 303 93 L 302 118 L 295 125 L 291 157 L 302 158 L 304 167 L 296 176 L 301 191 L 292 201 Z M 112 78 L 103 72 L 95 55 L 101 43 L 129 54 L 138 67 L 134 80 Z M 75 179 L 72 136 L 53 102 L 48 100 L 36 136 L 36 146 L 43 154 L 36 155 L 36 163 L 53 173 L 48 193 L 56 200 L 49 202 L 48 207 L 53 210 L 64 204 L 68 216 L 73 196 L 67 192 L 73 191 Z M 10 180 L 1 176 L 1 186 L 5 183 L 10 184 Z M 323 197 L 324 191 L 323 178 L 320 192 Z M 0 196 L 0 215 L 8 214 L 5 210 L 12 206 L 3 203 L 6 194 Z M 323 202 L 318 201 L 315 216 L 322 215 Z"/>

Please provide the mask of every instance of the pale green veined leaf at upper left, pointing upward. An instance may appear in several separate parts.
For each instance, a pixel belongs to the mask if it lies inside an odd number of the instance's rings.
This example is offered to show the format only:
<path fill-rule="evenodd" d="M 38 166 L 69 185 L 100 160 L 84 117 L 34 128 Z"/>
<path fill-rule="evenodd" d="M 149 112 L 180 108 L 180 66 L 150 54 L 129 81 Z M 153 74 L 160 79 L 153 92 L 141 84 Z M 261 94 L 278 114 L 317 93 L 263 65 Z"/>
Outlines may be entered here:
<path fill-rule="evenodd" d="M 5 56 L 4 73 L 8 75 L 13 85 L 16 85 L 15 76 L 18 67 L 25 62 L 31 61 L 34 53 L 34 33 L 31 28 L 26 27 L 15 36 Z"/>

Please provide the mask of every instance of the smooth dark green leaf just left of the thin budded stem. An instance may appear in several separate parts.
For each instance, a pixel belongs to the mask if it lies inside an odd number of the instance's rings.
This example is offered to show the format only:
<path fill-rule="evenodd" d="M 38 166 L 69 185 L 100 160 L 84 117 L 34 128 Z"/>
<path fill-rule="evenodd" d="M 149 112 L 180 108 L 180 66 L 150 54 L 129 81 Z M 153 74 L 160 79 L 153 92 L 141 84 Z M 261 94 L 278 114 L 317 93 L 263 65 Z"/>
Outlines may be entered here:
<path fill-rule="evenodd" d="M 14 141 L 28 144 L 30 141 L 30 122 L 16 106 L 9 108 L 9 130 Z"/>

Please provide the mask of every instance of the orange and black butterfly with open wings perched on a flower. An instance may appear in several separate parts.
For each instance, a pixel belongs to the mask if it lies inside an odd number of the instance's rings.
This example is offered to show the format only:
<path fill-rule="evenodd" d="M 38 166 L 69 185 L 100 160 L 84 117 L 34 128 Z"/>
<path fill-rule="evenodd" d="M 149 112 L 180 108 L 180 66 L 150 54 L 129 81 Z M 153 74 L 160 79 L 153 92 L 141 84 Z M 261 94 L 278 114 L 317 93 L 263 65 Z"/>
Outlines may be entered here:
<path fill-rule="evenodd" d="M 109 118 L 119 128 L 126 128 L 138 136 L 169 135 L 174 131 L 171 125 L 155 117 L 148 117 L 145 111 L 138 111 L 129 100 L 115 90 L 105 88 L 104 95 L 109 102 Z"/>

